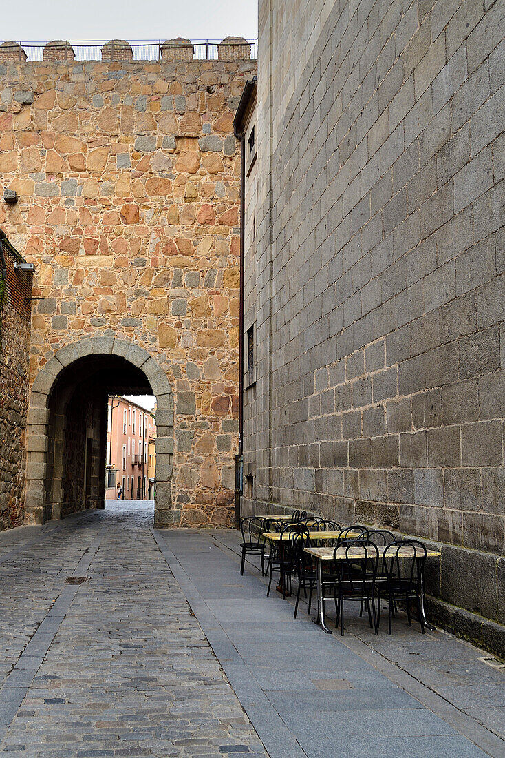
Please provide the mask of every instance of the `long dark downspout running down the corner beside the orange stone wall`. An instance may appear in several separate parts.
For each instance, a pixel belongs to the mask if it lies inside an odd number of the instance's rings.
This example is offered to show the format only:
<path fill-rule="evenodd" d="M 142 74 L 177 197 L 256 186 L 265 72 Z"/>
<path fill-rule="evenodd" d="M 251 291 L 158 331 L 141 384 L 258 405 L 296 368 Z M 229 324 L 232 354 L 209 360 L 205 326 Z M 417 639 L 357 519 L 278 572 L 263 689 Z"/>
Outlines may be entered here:
<path fill-rule="evenodd" d="M 238 307 L 238 456 L 235 461 L 235 529 L 240 528 L 240 499 L 243 485 L 244 440 L 244 252 L 245 252 L 245 136 L 237 130 L 240 139 L 240 300 Z"/>

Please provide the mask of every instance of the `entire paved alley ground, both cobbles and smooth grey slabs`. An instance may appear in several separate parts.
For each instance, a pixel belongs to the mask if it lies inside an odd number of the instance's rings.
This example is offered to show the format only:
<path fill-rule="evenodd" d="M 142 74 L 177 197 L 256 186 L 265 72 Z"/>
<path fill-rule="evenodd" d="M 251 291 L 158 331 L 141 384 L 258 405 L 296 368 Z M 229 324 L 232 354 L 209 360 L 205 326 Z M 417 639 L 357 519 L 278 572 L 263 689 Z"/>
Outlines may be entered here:
<path fill-rule="evenodd" d="M 0 534 L 0 753 L 503 756 L 503 670 L 402 614 L 326 636 L 231 530 L 112 501 Z M 69 584 L 86 578 L 82 584 Z"/>

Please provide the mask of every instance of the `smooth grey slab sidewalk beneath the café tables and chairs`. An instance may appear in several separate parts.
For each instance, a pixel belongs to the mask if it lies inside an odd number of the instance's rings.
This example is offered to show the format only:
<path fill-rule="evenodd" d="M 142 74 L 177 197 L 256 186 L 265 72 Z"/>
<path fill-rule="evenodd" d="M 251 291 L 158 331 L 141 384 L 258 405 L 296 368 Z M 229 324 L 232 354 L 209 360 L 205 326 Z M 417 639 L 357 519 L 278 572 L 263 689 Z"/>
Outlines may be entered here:
<path fill-rule="evenodd" d="M 241 577 L 238 532 L 154 534 L 271 758 L 505 754 L 505 670 L 481 650 L 402 614 L 375 637 L 358 608 L 323 634 L 259 565 Z"/>

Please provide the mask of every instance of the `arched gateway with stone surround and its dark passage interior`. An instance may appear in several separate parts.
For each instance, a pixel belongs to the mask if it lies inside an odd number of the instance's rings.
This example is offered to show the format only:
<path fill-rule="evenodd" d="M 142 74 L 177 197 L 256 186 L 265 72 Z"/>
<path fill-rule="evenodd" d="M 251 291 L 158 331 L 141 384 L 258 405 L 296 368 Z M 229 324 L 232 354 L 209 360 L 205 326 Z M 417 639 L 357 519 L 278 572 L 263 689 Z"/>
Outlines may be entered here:
<path fill-rule="evenodd" d="M 33 382 L 27 428 L 26 522 L 43 524 L 105 506 L 107 399 L 156 396 L 155 525 L 170 523 L 173 394 L 163 369 L 137 345 L 89 337 L 53 356 Z"/>

